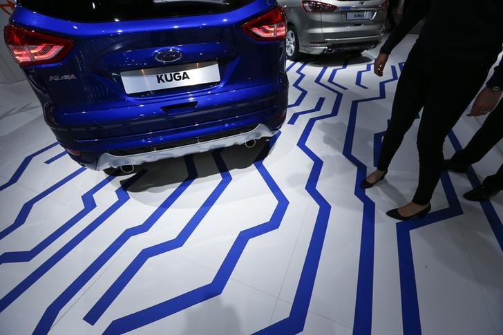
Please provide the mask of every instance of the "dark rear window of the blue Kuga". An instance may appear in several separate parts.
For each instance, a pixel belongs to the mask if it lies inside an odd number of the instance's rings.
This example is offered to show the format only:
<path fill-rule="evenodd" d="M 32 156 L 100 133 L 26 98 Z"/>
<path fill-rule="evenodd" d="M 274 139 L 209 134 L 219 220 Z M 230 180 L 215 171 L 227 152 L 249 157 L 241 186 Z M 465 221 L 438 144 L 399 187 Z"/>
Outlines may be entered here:
<path fill-rule="evenodd" d="M 30 10 L 77 22 L 107 22 L 216 14 L 253 0 L 18 0 Z"/>

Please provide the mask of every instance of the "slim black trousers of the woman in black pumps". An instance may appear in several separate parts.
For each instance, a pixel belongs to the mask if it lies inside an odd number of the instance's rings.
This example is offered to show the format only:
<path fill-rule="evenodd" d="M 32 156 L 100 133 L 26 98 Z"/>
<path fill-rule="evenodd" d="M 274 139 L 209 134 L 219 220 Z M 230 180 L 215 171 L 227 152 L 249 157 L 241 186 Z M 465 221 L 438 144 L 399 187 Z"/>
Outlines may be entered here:
<path fill-rule="evenodd" d="M 398 81 L 377 169 L 388 170 L 405 133 L 423 108 L 417 134 L 419 183 L 412 199 L 416 204 L 430 202 L 442 175 L 444 140 L 484 84 L 494 61 L 460 63 L 431 55 L 420 44 L 412 47 Z"/>

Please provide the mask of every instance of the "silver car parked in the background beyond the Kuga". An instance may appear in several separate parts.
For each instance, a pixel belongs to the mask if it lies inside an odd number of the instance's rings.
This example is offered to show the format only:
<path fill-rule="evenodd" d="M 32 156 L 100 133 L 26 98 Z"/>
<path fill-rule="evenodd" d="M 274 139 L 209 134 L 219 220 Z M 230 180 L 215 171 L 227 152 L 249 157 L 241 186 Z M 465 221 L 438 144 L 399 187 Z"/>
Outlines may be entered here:
<path fill-rule="evenodd" d="M 287 14 L 287 57 L 375 48 L 382 39 L 388 0 L 278 0 Z"/>

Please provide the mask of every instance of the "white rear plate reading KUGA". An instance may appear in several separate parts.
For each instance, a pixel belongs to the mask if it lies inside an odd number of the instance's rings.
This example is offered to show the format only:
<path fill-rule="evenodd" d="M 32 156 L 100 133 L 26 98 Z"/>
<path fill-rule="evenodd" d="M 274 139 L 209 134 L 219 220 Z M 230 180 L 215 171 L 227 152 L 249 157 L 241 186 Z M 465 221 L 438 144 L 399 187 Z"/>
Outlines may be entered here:
<path fill-rule="evenodd" d="M 125 71 L 120 76 L 127 94 L 220 82 L 216 61 Z"/>

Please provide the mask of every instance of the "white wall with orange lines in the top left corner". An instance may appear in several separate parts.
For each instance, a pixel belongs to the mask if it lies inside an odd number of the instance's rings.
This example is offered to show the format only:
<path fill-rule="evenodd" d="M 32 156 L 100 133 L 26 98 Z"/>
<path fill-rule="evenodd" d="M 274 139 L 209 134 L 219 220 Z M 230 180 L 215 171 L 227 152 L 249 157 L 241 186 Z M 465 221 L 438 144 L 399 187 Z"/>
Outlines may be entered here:
<path fill-rule="evenodd" d="M 12 3 L 12 0 L 10 2 Z M 0 5 L 6 4 L 8 4 L 8 0 L 0 0 Z M 8 6 L 0 7 L 0 84 L 12 84 L 25 79 L 23 72 L 3 43 L 3 27 L 7 25 L 10 17 L 7 12 L 11 12 Z"/>

